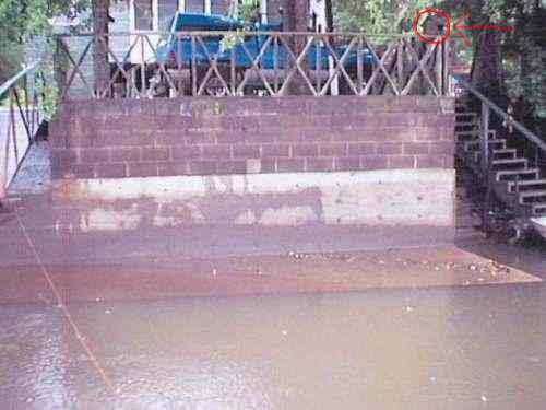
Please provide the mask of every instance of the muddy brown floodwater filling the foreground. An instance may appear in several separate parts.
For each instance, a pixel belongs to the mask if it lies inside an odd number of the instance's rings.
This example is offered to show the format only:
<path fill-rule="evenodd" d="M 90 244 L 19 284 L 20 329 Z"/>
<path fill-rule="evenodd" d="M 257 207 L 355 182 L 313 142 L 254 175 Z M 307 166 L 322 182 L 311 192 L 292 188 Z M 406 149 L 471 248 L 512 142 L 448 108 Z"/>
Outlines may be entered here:
<path fill-rule="evenodd" d="M 71 303 L 116 393 L 61 308 L 3 305 L 0 408 L 539 410 L 545 312 L 542 283 Z"/>

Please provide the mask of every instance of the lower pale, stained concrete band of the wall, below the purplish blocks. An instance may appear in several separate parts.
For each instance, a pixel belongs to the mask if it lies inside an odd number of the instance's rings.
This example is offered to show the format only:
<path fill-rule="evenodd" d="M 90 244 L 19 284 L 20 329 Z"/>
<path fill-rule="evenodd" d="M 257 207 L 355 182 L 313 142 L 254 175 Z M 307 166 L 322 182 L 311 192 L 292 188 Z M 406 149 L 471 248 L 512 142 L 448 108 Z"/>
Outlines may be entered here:
<path fill-rule="evenodd" d="M 351 233 L 344 246 L 363 249 L 452 242 L 453 197 L 447 169 L 67 180 L 54 190 L 63 208 L 56 224 L 81 232 L 195 227 L 206 235 L 215 226 L 229 246 L 237 229 L 261 236 L 287 227 L 307 233 L 309 244 L 292 245 L 305 249 L 328 248 L 329 229 Z"/>

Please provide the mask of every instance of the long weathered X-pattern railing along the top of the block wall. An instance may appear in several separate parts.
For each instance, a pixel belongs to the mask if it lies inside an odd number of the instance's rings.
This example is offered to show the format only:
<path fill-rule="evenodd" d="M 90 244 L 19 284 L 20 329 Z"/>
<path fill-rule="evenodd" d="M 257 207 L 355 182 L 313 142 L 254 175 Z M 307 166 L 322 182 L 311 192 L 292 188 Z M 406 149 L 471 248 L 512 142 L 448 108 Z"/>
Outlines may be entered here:
<path fill-rule="evenodd" d="M 228 35 L 238 42 L 223 50 L 219 38 Z M 334 94 L 334 85 L 341 94 L 360 96 L 441 96 L 450 90 L 448 44 L 425 44 L 404 36 L 372 42 L 363 33 L 82 34 L 78 37 L 87 38 L 83 50 L 71 50 L 68 37 L 57 38 L 59 55 L 69 67 L 62 98 L 70 97 L 76 79 L 93 98 L 165 96 L 154 91 L 157 84 L 173 97 L 211 93 L 240 96 L 257 90 L 262 95 L 283 96 L 295 83 L 314 96 Z M 164 39 L 162 48 L 158 38 Z M 112 48 L 112 43 L 120 40 L 128 44 L 122 56 Z M 93 70 L 83 69 L 95 48 L 108 56 L 111 69 L 106 84 L 93 80 Z M 115 93 L 118 83 L 124 84 L 124 94 Z"/>

